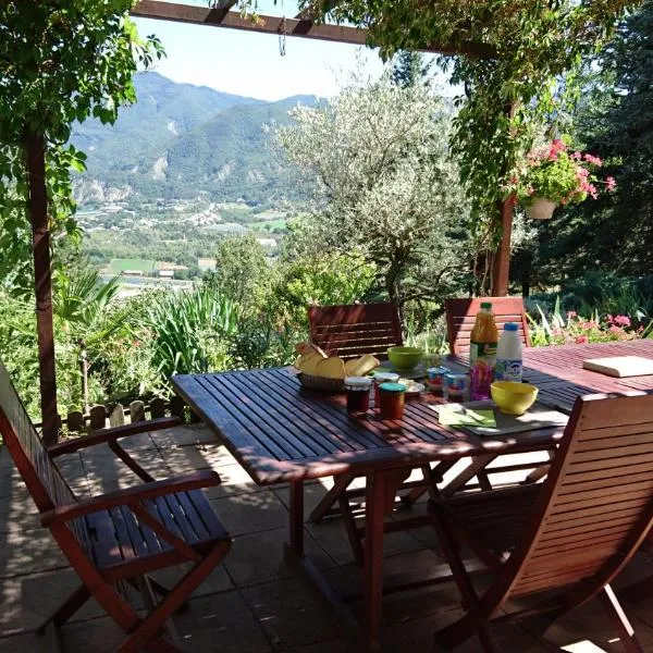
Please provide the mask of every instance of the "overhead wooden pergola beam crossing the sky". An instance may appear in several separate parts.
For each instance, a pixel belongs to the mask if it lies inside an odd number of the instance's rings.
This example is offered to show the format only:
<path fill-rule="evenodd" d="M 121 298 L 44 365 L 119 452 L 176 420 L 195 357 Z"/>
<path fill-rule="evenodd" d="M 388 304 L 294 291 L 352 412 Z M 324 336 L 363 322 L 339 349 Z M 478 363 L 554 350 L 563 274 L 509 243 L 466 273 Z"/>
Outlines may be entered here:
<path fill-rule="evenodd" d="M 257 15 L 255 19 L 242 16 L 238 12 L 229 11 L 230 0 L 219 7 L 193 7 L 178 2 L 159 2 L 158 0 L 140 0 L 132 10 L 133 16 L 158 19 L 177 23 L 209 25 L 255 32 L 259 34 L 284 34 L 357 46 L 372 45 L 367 29 L 348 25 L 320 24 L 306 19 L 284 19 L 280 16 Z M 234 2 L 235 4 L 235 2 Z M 467 54 L 480 59 L 492 58 L 493 50 L 484 44 L 463 42 L 456 45 L 434 45 L 423 49 L 424 52 L 440 54 Z"/>

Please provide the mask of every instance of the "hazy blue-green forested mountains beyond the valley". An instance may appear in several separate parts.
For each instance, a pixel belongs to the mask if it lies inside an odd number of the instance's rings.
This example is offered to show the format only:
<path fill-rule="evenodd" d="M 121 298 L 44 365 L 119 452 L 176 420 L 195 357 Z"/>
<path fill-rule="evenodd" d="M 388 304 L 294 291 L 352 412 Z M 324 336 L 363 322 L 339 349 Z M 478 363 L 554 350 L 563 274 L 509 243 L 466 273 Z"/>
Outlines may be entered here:
<path fill-rule="evenodd" d="M 72 141 L 88 155 L 76 182 L 82 205 L 130 198 L 256 204 L 301 199 L 294 171 L 268 146 L 263 125 L 286 123 L 313 96 L 264 102 L 207 87 L 176 84 L 153 72 L 135 78 L 138 101 L 113 126 L 76 125 Z"/>

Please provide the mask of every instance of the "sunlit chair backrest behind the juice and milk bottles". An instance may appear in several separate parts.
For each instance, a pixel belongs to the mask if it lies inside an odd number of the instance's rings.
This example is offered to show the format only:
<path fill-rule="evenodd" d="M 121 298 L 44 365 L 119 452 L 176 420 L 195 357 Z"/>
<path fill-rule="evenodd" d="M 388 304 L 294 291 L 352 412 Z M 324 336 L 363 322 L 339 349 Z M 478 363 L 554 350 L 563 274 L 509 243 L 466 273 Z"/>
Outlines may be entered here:
<path fill-rule="evenodd" d="M 531 346 L 528 320 L 521 297 L 456 298 L 445 299 L 444 301 L 446 336 L 452 354 L 469 354 L 471 330 L 483 301 L 492 301 L 492 311 L 494 312 L 500 333 L 506 322 L 516 322 L 519 326 L 521 342 L 527 347 Z"/>

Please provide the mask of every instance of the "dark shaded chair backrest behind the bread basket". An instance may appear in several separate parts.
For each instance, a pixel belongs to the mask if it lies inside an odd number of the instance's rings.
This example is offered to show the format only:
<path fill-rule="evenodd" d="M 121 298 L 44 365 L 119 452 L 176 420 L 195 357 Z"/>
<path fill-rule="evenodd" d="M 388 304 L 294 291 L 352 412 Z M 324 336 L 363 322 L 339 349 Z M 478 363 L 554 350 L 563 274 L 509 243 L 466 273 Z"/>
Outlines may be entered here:
<path fill-rule="evenodd" d="M 387 347 L 403 343 L 394 304 L 311 306 L 308 321 L 311 343 L 344 359 L 364 354 L 385 358 Z"/>

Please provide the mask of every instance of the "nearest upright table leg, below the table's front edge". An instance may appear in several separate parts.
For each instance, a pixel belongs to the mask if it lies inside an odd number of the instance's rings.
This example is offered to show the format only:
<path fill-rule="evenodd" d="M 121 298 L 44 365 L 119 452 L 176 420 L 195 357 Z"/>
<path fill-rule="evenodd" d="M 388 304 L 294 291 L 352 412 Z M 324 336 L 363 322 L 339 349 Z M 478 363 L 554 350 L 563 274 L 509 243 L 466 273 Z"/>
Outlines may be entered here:
<path fill-rule="evenodd" d="M 381 651 L 383 614 L 383 520 L 387 472 L 367 475 L 365 509 L 364 615 L 366 652 Z"/>

